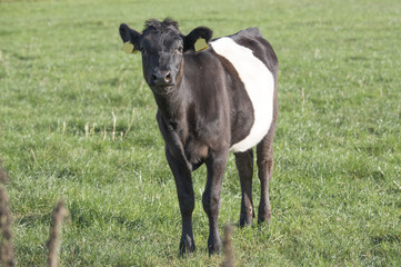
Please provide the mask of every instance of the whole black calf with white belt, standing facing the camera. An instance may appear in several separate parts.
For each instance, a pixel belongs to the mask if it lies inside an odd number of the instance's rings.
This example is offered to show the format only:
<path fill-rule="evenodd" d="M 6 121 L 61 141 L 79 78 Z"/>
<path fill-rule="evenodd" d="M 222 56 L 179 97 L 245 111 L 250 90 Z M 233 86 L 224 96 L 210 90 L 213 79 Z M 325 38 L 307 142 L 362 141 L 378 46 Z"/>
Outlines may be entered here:
<path fill-rule="evenodd" d="M 143 76 L 158 105 L 157 120 L 182 216 L 180 250 L 196 248 L 191 171 L 202 164 L 208 169 L 202 196 L 209 218 L 208 248 L 209 253 L 221 249 L 220 192 L 230 151 L 235 155 L 241 180 L 240 225 L 251 225 L 252 147 L 257 146 L 261 184 L 258 221 L 268 221 L 278 117 L 278 59 L 270 43 L 255 28 L 212 41 L 212 31 L 204 27 L 183 36 L 170 19 L 148 20 L 142 33 L 121 24 L 120 36 L 141 51 Z M 209 47 L 197 52 L 198 39 L 204 39 Z"/>

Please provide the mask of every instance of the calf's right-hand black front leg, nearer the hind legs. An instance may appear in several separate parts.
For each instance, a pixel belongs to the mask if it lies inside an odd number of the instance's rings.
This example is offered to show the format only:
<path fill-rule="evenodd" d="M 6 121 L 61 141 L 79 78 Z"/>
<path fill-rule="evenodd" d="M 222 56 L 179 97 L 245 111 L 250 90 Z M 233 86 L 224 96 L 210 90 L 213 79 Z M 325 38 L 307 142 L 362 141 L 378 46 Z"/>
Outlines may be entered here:
<path fill-rule="evenodd" d="M 207 186 L 202 196 L 204 212 L 209 218 L 209 254 L 221 250 L 221 239 L 219 235 L 219 212 L 220 212 L 220 194 L 227 165 L 228 150 L 220 154 L 211 154 L 205 160 L 208 168 Z"/>

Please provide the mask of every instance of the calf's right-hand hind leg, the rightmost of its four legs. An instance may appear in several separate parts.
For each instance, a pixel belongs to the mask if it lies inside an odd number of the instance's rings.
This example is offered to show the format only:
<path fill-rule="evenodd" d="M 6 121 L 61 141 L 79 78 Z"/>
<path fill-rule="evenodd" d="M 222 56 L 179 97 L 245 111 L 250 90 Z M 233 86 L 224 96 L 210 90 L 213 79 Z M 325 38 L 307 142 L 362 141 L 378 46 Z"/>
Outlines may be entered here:
<path fill-rule="evenodd" d="M 269 222 L 271 217 L 271 207 L 269 200 L 269 181 L 273 171 L 273 135 L 274 127 L 257 146 L 257 165 L 260 180 L 260 202 L 258 209 L 258 222 Z"/>

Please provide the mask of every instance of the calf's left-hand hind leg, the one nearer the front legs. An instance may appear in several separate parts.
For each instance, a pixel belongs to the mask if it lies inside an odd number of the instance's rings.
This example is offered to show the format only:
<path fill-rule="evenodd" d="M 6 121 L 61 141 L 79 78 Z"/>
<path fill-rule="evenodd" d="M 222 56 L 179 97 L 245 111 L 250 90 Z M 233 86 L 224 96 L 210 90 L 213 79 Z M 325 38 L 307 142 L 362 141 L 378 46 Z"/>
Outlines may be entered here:
<path fill-rule="evenodd" d="M 234 155 L 242 194 L 240 226 L 244 227 L 252 225 L 252 218 L 254 217 L 252 202 L 253 150 L 249 149 Z"/>

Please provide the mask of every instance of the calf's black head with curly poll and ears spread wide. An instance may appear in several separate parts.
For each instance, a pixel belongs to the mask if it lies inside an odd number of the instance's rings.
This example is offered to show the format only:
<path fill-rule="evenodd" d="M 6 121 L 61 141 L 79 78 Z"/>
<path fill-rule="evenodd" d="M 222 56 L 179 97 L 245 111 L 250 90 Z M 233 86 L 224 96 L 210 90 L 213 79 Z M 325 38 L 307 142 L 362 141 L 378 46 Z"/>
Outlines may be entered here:
<path fill-rule="evenodd" d="M 178 23 L 171 19 L 148 20 L 144 27 L 139 33 L 122 23 L 120 36 L 123 42 L 131 42 L 136 50 L 141 51 L 143 77 L 152 91 L 167 93 L 181 82 L 184 53 L 194 50 L 199 38 L 208 42 L 213 32 L 198 27 L 183 36 Z"/>

